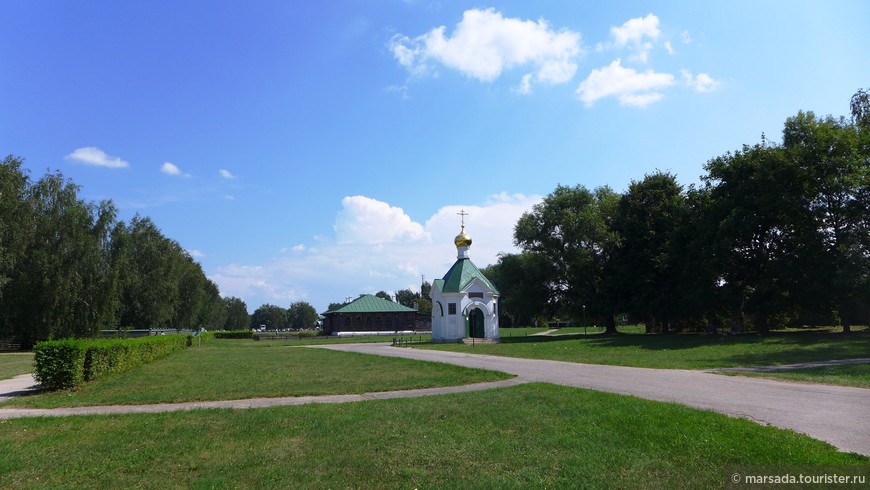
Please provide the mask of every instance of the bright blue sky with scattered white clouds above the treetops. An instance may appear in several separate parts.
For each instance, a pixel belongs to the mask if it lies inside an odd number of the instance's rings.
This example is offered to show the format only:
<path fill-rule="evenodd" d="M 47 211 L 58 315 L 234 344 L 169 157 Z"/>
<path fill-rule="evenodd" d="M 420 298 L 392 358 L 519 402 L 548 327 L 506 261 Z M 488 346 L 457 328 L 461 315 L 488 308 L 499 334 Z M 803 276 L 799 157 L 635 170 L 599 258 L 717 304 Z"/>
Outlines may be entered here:
<path fill-rule="evenodd" d="M 33 1 L 0 152 L 150 217 L 221 293 L 323 311 L 480 266 L 557 184 L 778 140 L 870 87 L 866 1 Z"/>

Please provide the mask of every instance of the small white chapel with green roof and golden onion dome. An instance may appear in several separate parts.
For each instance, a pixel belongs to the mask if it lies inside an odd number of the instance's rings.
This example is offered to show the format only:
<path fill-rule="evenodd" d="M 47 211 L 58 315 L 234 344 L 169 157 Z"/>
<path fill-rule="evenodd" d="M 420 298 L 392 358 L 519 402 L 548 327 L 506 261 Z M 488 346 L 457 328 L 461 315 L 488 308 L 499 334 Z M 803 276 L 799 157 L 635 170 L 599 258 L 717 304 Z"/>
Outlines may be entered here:
<path fill-rule="evenodd" d="M 458 342 L 464 339 L 498 341 L 498 289 L 471 261 L 471 237 L 462 229 L 453 244 L 456 262 L 442 279 L 435 279 L 432 299 L 432 342 Z"/>

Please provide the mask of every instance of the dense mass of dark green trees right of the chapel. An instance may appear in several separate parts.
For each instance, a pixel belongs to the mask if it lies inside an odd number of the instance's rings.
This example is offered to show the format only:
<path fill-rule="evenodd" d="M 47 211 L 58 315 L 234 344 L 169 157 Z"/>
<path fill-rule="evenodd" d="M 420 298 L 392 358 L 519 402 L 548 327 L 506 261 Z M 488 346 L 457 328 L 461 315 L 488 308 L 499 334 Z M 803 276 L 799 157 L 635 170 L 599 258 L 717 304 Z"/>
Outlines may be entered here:
<path fill-rule="evenodd" d="M 657 171 L 624 194 L 558 186 L 485 273 L 508 322 L 649 330 L 870 323 L 870 102 L 800 112 L 707 162 L 701 186 Z M 665 144 L 663 142 L 663 144 Z"/>

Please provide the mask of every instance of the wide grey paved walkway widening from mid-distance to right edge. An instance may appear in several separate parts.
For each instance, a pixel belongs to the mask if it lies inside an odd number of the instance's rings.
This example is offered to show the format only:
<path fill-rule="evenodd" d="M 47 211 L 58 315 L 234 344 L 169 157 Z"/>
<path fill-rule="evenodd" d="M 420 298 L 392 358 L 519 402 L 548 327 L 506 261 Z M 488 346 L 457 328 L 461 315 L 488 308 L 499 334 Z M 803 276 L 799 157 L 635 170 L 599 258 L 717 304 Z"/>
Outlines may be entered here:
<path fill-rule="evenodd" d="M 325 348 L 388 355 L 515 374 L 521 381 L 634 395 L 792 429 L 842 451 L 870 456 L 870 389 L 722 376 L 703 371 L 648 369 L 519 359 L 388 344 L 339 344 Z"/>

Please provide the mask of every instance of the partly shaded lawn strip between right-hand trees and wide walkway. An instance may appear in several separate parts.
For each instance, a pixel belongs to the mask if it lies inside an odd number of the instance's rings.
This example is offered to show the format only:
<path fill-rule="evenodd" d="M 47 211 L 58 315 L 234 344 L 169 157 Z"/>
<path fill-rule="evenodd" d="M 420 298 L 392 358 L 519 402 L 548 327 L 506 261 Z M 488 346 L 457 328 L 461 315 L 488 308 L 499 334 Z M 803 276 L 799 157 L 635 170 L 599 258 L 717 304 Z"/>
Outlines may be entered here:
<path fill-rule="evenodd" d="M 502 338 L 499 344 L 430 344 L 417 348 L 508 357 L 664 369 L 790 364 L 870 356 L 870 332 L 785 332 L 736 336 L 674 334 Z"/>

